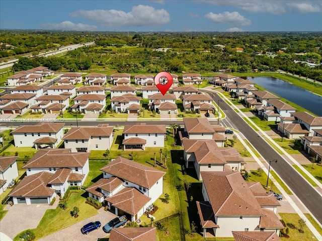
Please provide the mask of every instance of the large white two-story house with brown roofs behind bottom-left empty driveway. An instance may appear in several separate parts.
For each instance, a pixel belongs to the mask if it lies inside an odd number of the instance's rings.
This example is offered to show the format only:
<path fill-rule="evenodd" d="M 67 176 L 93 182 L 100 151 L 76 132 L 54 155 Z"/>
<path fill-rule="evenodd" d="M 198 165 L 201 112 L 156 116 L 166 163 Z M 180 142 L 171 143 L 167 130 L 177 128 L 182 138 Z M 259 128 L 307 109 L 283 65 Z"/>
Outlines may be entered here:
<path fill-rule="evenodd" d="M 68 186 L 82 186 L 89 173 L 89 153 L 41 149 L 23 168 L 27 176 L 10 193 L 14 204 L 50 204 Z"/>

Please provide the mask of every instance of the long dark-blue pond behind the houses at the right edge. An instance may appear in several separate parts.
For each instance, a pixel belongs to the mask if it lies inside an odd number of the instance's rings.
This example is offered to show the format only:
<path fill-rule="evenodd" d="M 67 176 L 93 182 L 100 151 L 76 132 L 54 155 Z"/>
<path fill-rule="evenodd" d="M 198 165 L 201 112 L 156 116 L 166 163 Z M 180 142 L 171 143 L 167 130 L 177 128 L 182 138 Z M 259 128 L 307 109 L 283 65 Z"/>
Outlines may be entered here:
<path fill-rule="evenodd" d="M 322 116 L 322 96 L 274 77 L 248 77 L 248 79 L 267 91 Z"/>

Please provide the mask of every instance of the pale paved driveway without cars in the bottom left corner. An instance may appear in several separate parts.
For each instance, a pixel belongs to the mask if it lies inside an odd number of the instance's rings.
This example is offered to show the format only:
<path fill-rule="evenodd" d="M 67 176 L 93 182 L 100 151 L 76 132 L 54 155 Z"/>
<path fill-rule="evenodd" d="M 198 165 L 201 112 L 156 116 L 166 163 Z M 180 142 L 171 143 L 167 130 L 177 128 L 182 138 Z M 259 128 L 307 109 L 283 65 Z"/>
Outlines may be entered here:
<path fill-rule="evenodd" d="M 54 205 L 48 204 L 15 204 L 7 205 L 5 210 L 9 210 L 5 217 L 0 221 L 0 232 L 14 238 L 18 233 L 28 228 L 36 228 L 47 209 L 57 207 L 59 198 Z"/>

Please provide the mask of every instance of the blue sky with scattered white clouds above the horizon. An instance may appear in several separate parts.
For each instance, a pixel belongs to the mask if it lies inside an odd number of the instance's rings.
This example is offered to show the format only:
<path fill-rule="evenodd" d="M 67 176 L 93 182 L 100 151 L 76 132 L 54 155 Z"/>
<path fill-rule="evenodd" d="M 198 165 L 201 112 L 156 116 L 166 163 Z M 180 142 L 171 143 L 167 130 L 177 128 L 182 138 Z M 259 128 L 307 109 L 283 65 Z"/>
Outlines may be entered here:
<path fill-rule="evenodd" d="M 0 0 L 0 29 L 322 31 L 322 1 Z"/>

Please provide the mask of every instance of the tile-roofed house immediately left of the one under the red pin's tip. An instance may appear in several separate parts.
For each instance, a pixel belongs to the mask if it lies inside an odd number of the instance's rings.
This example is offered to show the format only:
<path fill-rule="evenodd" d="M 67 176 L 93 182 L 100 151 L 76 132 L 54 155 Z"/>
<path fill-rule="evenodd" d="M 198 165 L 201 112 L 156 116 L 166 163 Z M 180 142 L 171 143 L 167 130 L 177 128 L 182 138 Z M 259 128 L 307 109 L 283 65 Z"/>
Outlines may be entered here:
<path fill-rule="evenodd" d="M 140 111 L 141 97 L 133 94 L 114 96 L 111 99 L 111 107 L 117 112 L 138 113 Z"/>

